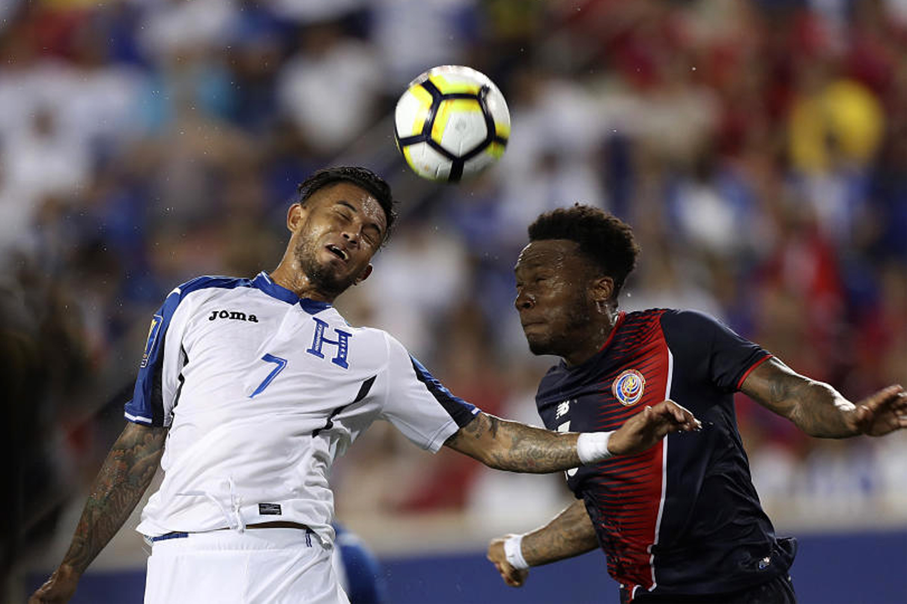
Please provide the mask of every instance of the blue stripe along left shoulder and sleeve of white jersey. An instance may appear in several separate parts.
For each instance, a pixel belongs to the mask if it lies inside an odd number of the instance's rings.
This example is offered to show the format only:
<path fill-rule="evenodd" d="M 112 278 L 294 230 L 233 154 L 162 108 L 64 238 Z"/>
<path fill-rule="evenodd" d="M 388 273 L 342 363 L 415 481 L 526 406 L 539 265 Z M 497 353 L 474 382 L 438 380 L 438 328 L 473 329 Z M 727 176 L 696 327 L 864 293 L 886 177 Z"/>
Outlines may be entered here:
<path fill-rule="evenodd" d="M 124 415 L 127 419 L 138 423 L 150 423 L 151 426 L 164 425 L 164 405 L 162 392 L 163 377 L 163 350 L 170 328 L 173 313 L 176 312 L 180 302 L 186 294 L 209 287 L 221 289 L 234 289 L 236 287 L 249 287 L 249 279 L 233 277 L 196 277 L 187 283 L 173 289 L 161 309 L 154 314 L 151 320 L 151 330 L 148 332 L 148 341 L 141 358 L 139 377 L 135 380 L 135 389 L 132 400 L 126 403 Z"/>

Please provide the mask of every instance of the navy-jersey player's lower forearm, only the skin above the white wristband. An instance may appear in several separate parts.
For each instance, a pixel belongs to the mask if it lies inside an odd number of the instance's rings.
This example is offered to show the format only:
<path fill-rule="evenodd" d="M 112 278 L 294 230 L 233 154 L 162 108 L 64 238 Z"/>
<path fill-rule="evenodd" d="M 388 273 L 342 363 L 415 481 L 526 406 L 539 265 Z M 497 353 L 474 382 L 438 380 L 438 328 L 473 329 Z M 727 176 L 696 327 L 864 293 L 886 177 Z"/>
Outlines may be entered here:
<path fill-rule="evenodd" d="M 541 529 L 522 539 L 522 556 L 530 566 L 578 556 L 598 547 L 586 504 L 576 501 Z"/>

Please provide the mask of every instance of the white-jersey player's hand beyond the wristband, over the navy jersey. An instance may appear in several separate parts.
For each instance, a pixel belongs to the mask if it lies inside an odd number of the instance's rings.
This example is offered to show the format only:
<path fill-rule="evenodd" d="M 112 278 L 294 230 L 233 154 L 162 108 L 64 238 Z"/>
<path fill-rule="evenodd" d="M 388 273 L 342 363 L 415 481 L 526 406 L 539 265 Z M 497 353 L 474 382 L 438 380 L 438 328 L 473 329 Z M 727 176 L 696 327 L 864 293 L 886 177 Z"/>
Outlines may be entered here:
<path fill-rule="evenodd" d="M 654 407 L 645 407 L 614 431 L 608 440 L 608 450 L 614 455 L 636 455 L 671 432 L 688 432 L 702 427 L 699 420 L 673 400 L 663 400 Z"/>

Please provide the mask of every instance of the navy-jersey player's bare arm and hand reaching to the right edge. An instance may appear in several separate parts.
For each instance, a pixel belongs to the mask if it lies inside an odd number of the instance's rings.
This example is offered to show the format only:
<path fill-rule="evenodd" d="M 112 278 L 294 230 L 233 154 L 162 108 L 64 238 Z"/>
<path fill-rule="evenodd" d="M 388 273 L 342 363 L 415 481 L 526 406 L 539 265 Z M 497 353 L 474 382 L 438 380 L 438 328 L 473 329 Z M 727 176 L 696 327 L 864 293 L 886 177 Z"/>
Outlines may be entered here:
<path fill-rule="evenodd" d="M 753 369 L 740 389 L 810 436 L 883 436 L 907 427 L 907 392 L 900 386 L 883 388 L 854 405 L 828 384 L 772 358 Z"/>

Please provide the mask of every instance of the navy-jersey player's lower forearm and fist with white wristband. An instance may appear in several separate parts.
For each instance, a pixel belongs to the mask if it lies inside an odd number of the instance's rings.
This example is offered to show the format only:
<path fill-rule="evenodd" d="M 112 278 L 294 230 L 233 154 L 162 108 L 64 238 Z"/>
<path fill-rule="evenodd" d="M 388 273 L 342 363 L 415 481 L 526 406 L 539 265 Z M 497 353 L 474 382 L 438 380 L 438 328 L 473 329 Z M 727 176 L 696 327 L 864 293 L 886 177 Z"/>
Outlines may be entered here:
<path fill-rule="evenodd" d="M 514 537 L 516 535 L 505 535 L 493 539 L 488 545 L 487 558 L 501 573 L 505 583 L 511 587 L 521 587 L 529 570 L 514 567 L 507 560 L 504 551 L 504 543 Z M 515 545 L 521 548 L 522 559 L 528 566 L 541 566 L 592 551 L 598 547 L 599 541 L 589 514 L 586 513 L 586 504 L 578 500 L 555 516 L 550 523 L 522 535 L 522 540 Z"/>

